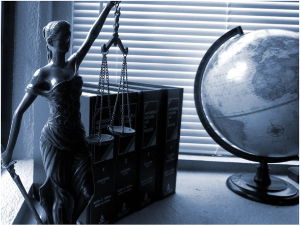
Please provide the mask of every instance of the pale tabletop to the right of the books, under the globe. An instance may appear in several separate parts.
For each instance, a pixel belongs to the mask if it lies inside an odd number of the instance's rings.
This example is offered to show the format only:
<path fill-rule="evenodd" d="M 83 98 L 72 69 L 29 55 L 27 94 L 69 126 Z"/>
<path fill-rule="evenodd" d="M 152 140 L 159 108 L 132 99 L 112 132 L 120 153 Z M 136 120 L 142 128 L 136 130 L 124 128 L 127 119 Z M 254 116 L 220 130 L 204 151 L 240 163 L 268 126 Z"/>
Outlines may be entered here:
<path fill-rule="evenodd" d="M 117 224 L 299 224 L 299 205 L 271 206 L 242 198 L 226 187 L 230 175 L 179 171 L 176 194 Z M 288 177 L 278 177 L 299 189 Z"/>

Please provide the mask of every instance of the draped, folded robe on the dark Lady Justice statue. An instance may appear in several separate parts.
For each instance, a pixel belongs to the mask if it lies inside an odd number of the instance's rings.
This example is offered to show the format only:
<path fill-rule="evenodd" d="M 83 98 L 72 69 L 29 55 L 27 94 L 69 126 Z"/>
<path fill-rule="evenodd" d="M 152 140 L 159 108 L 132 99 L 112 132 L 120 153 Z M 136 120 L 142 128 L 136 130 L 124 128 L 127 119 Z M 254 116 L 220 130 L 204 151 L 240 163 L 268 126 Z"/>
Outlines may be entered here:
<path fill-rule="evenodd" d="M 82 78 L 75 73 L 50 90 L 37 84 L 26 92 L 43 96 L 50 115 L 40 138 L 46 181 L 40 187 L 40 205 L 48 224 L 74 224 L 88 206 L 93 193 L 91 154 L 80 120 Z"/>

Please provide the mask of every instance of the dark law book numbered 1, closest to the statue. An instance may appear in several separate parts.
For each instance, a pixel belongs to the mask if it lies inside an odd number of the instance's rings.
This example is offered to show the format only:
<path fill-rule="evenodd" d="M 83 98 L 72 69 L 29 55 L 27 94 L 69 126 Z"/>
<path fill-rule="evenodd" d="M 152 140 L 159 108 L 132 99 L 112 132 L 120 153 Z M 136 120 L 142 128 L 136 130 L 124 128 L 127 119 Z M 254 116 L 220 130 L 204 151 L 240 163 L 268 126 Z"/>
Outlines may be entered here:
<path fill-rule="evenodd" d="M 96 94 L 93 90 L 85 90 L 80 97 L 81 120 L 83 121 L 87 135 L 96 134 L 100 120 L 100 98 L 96 109 L 94 125 L 93 116 L 96 104 Z M 111 103 L 114 105 L 116 94 L 111 95 Z M 110 134 L 106 129 L 110 125 L 110 113 L 107 102 L 107 93 L 103 95 L 103 108 L 101 130 L 102 134 Z M 111 112 L 113 107 L 111 107 Z M 92 131 L 93 128 L 93 131 Z M 91 203 L 79 220 L 85 224 L 111 224 L 113 222 L 114 195 L 115 195 L 115 158 L 114 142 L 110 144 L 92 145 L 92 169 L 94 175 L 95 193 Z"/>

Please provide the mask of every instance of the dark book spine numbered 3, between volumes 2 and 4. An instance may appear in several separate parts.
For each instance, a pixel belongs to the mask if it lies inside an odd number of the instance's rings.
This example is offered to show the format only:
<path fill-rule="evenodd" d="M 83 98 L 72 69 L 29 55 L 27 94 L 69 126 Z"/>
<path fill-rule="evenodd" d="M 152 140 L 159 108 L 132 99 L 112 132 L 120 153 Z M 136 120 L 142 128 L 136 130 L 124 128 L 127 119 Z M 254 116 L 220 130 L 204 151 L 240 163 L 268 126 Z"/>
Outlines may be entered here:
<path fill-rule="evenodd" d="M 160 107 L 160 91 L 140 92 L 139 127 L 137 131 L 138 176 L 137 208 L 142 209 L 156 199 L 155 177 L 157 157 L 157 130 Z"/>

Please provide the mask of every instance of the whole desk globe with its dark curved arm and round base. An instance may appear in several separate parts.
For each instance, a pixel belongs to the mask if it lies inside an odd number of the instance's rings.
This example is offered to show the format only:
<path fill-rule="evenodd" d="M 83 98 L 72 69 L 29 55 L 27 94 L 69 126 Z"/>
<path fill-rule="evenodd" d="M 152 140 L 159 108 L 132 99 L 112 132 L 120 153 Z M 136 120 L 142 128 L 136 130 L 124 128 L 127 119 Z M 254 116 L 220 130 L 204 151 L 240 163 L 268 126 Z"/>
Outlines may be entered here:
<path fill-rule="evenodd" d="M 299 203 L 298 189 L 270 176 L 268 167 L 298 159 L 298 84 L 299 35 L 294 32 L 244 34 L 236 27 L 202 58 L 194 98 L 203 127 L 232 154 L 259 162 L 256 173 L 238 172 L 227 179 L 234 193 L 271 205 Z"/>

